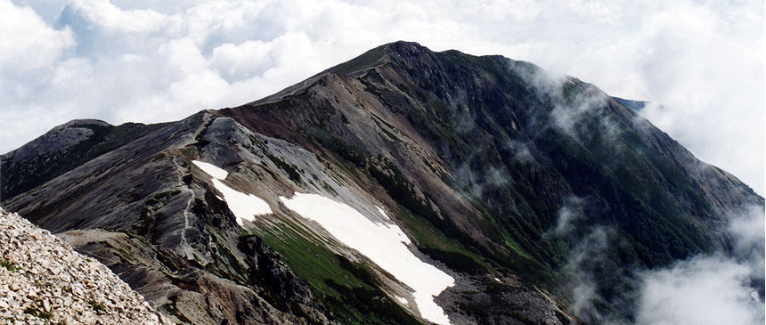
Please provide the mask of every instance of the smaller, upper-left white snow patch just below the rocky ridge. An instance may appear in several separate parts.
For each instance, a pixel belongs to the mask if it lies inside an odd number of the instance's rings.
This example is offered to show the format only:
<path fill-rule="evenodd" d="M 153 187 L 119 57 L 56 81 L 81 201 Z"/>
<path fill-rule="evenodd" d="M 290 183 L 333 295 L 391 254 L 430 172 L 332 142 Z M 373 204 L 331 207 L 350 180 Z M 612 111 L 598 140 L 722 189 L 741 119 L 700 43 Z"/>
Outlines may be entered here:
<path fill-rule="evenodd" d="M 272 208 L 265 200 L 258 198 L 252 194 L 245 194 L 240 191 L 236 191 L 229 186 L 226 186 L 222 180 L 229 175 L 224 169 L 218 168 L 212 164 L 202 162 L 199 160 L 192 160 L 192 163 L 197 167 L 200 167 L 205 173 L 213 176 L 213 186 L 216 190 L 224 194 L 224 201 L 229 209 L 232 210 L 234 216 L 237 217 L 237 223 L 240 226 L 244 225 L 242 220 L 255 221 L 256 215 L 268 215 L 272 213 Z"/>

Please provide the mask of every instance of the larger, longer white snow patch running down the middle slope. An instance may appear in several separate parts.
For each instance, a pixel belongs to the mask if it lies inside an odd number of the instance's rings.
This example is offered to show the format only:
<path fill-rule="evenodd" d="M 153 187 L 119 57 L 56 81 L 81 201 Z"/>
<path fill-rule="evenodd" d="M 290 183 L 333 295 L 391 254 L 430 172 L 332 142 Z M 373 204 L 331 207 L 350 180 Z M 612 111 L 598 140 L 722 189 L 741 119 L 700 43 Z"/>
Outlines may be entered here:
<path fill-rule="evenodd" d="M 434 302 L 434 296 L 452 287 L 455 280 L 413 255 L 407 248 L 410 239 L 397 225 L 374 223 L 354 207 L 321 195 L 295 193 L 292 199 L 280 199 L 290 210 L 321 224 L 337 240 L 367 256 L 396 280 L 412 288 L 415 304 L 424 319 L 437 324 L 450 323 L 444 310 Z M 379 212 L 385 215 L 382 209 Z"/>

